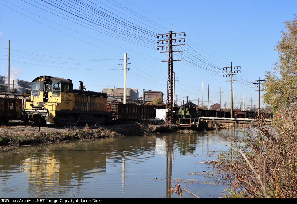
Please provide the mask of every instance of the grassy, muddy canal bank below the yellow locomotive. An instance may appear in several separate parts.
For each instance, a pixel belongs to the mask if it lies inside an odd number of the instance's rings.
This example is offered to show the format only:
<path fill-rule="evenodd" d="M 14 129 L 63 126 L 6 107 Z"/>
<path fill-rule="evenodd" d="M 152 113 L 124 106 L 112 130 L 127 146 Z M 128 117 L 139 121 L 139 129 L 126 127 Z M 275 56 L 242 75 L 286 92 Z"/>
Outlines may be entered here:
<path fill-rule="evenodd" d="M 56 143 L 65 140 L 85 140 L 106 137 L 149 135 L 157 132 L 174 132 L 176 126 L 156 126 L 149 124 L 124 124 L 116 126 L 76 126 L 76 127 L 0 127 L 0 151 L 18 148 L 22 145 Z"/>

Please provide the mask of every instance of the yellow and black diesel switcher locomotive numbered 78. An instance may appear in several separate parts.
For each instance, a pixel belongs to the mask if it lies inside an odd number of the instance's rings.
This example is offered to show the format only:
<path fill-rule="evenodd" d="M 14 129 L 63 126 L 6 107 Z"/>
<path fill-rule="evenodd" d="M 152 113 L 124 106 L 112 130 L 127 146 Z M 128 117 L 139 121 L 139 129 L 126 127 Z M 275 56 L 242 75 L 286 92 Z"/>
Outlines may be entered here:
<path fill-rule="evenodd" d="M 22 101 L 22 121 L 43 121 L 47 124 L 105 123 L 107 94 L 73 89 L 72 80 L 40 76 L 31 83 L 31 96 Z"/>

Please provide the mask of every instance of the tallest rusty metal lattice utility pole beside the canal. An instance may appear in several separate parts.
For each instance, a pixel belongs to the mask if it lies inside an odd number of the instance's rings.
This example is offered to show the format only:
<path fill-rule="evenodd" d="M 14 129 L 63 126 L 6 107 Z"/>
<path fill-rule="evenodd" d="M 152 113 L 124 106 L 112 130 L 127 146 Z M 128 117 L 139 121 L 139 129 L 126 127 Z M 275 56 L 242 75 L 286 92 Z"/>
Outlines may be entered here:
<path fill-rule="evenodd" d="M 178 45 L 173 45 L 173 43 L 176 43 L 176 40 L 178 40 L 179 42 L 181 42 L 181 40 L 184 40 L 184 42 L 186 42 L 185 38 L 175 38 L 176 34 L 179 34 L 179 36 L 181 36 L 181 34 L 184 34 L 184 36 L 186 36 L 185 32 L 179 32 L 179 33 L 174 33 L 173 32 L 173 25 L 172 25 L 172 31 L 169 31 L 169 33 L 165 33 L 165 34 L 158 34 L 157 38 L 159 38 L 159 36 L 161 38 L 165 38 L 166 39 L 162 39 L 162 40 L 158 40 L 159 42 L 162 44 L 161 46 L 158 46 L 157 50 L 159 50 L 159 48 L 162 48 L 162 50 L 164 49 L 164 47 L 166 48 L 166 50 L 168 51 L 160 51 L 160 53 L 166 53 L 168 52 L 168 60 L 164 60 L 162 62 L 168 62 L 168 80 L 167 80 L 167 101 L 166 101 L 166 109 L 167 109 L 167 113 L 166 113 L 166 124 L 171 125 L 172 124 L 172 120 L 173 120 L 173 61 L 181 61 L 181 60 L 173 60 L 173 52 L 182 52 L 182 51 L 173 51 L 173 46 L 178 46 Z M 173 36 L 174 35 L 174 36 Z M 180 45 L 185 45 L 185 44 L 180 44 Z"/>

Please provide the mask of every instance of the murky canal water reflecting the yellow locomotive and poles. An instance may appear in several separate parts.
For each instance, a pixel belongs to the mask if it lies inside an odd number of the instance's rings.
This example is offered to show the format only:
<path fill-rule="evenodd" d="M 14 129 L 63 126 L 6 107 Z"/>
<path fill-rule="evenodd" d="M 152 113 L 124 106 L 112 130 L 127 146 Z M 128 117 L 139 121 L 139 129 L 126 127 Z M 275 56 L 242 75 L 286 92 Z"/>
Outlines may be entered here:
<path fill-rule="evenodd" d="M 228 129 L 24 146 L 0 153 L 0 197 L 175 198 L 167 191 L 176 181 L 220 197 L 226 186 L 203 162 L 243 140 Z"/>

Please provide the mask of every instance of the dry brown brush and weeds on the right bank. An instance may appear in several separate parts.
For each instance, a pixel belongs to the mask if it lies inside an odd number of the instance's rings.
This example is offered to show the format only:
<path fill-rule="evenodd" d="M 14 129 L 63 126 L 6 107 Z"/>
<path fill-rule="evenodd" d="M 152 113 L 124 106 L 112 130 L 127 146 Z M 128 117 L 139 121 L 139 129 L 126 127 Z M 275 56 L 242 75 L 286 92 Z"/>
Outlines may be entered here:
<path fill-rule="evenodd" d="M 246 145 L 220 155 L 219 169 L 234 175 L 232 196 L 297 197 L 296 118 L 296 107 L 283 108 L 271 127 L 259 118 Z"/>

